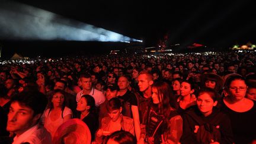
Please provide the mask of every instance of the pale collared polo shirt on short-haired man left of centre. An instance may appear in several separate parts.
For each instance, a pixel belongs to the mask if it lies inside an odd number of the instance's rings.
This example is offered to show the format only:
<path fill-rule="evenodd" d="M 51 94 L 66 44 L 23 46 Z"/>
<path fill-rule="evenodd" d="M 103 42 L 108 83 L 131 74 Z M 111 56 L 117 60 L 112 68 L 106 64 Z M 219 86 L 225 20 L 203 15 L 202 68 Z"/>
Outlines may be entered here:
<path fill-rule="evenodd" d="M 78 101 L 80 100 L 80 98 L 82 97 L 83 94 L 83 90 L 79 91 L 76 94 L 76 102 L 78 103 Z M 105 95 L 103 94 L 103 92 L 98 91 L 97 89 L 92 88 L 91 92 L 89 93 L 89 95 L 91 95 L 92 97 L 94 97 L 95 100 L 95 106 L 98 107 L 100 104 L 104 103 L 105 101 Z"/>

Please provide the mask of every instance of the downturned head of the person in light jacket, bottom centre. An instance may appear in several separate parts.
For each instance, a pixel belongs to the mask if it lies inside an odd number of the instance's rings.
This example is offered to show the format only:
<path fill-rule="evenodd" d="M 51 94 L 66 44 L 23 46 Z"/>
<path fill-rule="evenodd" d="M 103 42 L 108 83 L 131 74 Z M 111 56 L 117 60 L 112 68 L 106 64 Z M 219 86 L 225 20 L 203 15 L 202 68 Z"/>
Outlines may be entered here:
<path fill-rule="evenodd" d="M 121 115 L 122 107 L 119 98 L 111 98 L 107 104 L 108 116 L 112 121 L 117 121 Z"/>

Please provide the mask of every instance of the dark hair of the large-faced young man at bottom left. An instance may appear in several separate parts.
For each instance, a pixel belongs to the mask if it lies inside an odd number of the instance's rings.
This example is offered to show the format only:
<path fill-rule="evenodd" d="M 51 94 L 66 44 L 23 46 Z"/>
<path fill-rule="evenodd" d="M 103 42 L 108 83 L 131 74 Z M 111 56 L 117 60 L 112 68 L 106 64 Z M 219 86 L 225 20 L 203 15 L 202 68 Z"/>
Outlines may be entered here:
<path fill-rule="evenodd" d="M 25 105 L 34 111 L 34 116 L 37 114 L 43 114 L 46 105 L 47 98 L 46 95 L 39 91 L 22 91 L 11 100 L 11 103 L 17 101 L 20 105 Z"/>

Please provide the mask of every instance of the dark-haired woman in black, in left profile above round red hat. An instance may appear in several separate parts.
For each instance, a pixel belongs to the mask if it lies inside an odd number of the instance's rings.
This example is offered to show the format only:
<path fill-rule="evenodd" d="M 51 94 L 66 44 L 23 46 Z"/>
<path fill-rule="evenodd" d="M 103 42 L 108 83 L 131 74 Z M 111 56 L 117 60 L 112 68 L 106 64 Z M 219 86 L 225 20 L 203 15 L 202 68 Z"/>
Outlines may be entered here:
<path fill-rule="evenodd" d="M 98 129 L 98 117 L 95 110 L 95 100 L 91 95 L 82 95 L 78 101 L 76 110 L 81 112 L 80 119 L 84 121 L 91 132 L 91 140 L 95 139 L 95 132 Z"/>

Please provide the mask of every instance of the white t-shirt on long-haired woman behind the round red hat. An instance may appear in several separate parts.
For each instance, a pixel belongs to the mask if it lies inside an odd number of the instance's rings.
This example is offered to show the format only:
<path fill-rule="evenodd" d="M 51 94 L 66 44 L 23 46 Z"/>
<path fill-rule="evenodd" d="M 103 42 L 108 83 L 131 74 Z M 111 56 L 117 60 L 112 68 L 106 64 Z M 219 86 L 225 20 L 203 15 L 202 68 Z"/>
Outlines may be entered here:
<path fill-rule="evenodd" d="M 52 121 L 50 119 L 50 113 L 49 113 L 50 108 L 48 108 L 46 111 L 44 111 L 44 127 L 47 129 L 47 131 L 52 135 L 52 138 L 55 135 L 55 132 L 57 130 L 57 128 L 63 123 L 63 118 L 62 115 L 60 114 L 59 119 Z M 72 110 L 68 107 L 65 107 L 63 110 L 63 117 L 68 116 L 68 114 L 73 114 Z"/>

